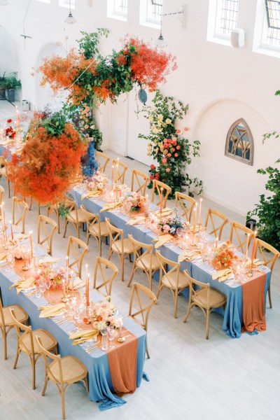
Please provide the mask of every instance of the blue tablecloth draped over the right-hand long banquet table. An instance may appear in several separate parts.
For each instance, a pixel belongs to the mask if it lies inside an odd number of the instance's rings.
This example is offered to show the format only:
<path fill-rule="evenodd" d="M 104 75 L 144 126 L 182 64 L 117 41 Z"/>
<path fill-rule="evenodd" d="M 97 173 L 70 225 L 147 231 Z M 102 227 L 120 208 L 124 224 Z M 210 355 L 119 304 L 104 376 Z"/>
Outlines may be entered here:
<path fill-rule="evenodd" d="M 99 197 L 85 198 L 82 200 L 82 195 L 85 194 L 85 190 L 82 186 L 76 186 L 72 188 L 69 193 L 73 195 L 74 200 L 78 206 L 84 204 L 85 208 L 92 213 L 98 213 L 104 206 L 104 201 Z M 100 219 L 104 221 L 105 218 L 109 218 L 113 225 L 123 229 L 124 236 L 132 235 L 135 239 L 142 241 L 146 244 L 151 244 L 153 239 L 158 235 L 152 230 L 148 229 L 144 225 L 126 225 L 130 217 L 127 214 L 123 214 L 119 209 L 104 211 L 100 214 Z M 160 247 L 160 252 L 166 258 L 173 261 L 178 261 L 182 249 L 173 243 L 167 243 Z M 194 279 L 202 281 L 204 283 L 210 283 L 211 287 L 216 288 L 227 296 L 227 305 L 225 310 L 221 307 L 216 309 L 223 315 L 223 330 L 225 334 L 232 338 L 241 337 L 241 328 L 243 324 L 243 297 L 242 297 L 242 285 L 240 283 L 233 283 L 231 285 L 227 283 L 219 283 L 218 281 L 212 280 L 211 267 L 206 264 L 197 265 L 194 261 L 190 262 L 184 260 L 181 262 L 182 269 L 188 269 L 190 276 Z M 253 280 L 255 281 L 255 280 Z M 265 270 L 265 297 L 270 281 L 270 270 Z M 188 289 L 183 290 L 183 295 L 188 295 Z"/>

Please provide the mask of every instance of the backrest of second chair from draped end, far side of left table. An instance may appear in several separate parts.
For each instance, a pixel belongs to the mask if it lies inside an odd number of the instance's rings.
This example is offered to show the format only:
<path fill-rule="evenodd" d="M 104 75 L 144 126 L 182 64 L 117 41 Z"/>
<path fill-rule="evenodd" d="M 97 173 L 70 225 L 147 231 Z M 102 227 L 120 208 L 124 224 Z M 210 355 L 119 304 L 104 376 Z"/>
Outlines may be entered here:
<path fill-rule="evenodd" d="M 111 295 L 113 279 L 118 275 L 118 268 L 106 258 L 97 257 L 95 260 L 93 288 L 101 291 L 102 295 Z M 101 289 L 106 290 L 103 293 Z"/>

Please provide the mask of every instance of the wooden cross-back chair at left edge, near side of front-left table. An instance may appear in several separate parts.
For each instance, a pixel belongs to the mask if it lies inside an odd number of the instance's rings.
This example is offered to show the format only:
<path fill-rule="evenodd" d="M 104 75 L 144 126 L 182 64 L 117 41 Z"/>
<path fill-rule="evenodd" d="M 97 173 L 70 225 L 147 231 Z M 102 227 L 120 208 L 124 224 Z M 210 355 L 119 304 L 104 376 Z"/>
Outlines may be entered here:
<path fill-rule="evenodd" d="M 15 326 L 13 319 L 10 317 L 10 309 L 15 311 L 16 317 L 22 323 L 27 323 L 29 318 L 27 311 L 19 304 L 10 304 L 9 306 L 3 307 L 0 299 L 0 330 L 3 337 L 4 360 L 7 359 L 7 335 Z"/>

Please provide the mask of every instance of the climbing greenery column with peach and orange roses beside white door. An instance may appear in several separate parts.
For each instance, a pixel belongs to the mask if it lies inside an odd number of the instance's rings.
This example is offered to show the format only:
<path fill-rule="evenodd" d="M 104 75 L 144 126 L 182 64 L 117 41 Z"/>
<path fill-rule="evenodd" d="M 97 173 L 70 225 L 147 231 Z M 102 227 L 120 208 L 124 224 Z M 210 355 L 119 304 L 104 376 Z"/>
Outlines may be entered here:
<path fill-rule="evenodd" d="M 186 138 L 188 127 L 176 129 L 176 120 L 183 120 L 188 105 L 175 102 L 173 97 L 164 97 L 160 90 L 156 90 L 153 104 L 141 111 L 150 122 L 150 134 L 139 134 L 139 138 L 149 141 L 147 154 L 157 162 L 157 165 L 151 165 L 148 188 L 152 188 L 153 179 L 157 179 L 172 188 L 170 197 L 183 186 L 189 188 L 189 195 L 202 193 L 202 181 L 191 179 L 186 172 L 186 165 L 190 165 L 192 158 L 200 156 L 200 141 L 192 143 Z"/>

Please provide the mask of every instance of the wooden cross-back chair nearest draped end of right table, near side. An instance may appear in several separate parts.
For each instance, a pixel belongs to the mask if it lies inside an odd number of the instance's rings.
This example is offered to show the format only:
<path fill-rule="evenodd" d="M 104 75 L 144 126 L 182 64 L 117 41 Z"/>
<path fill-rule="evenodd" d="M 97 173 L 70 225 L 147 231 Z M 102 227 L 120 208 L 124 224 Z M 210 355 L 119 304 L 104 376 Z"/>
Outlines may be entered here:
<path fill-rule="evenodd" d="M 206 338 L 209 338 L 209 318 L 212 309 L 225 306 L 227 297 L 215 288 L 211 288 L 209 283 L 202 283 L 193 279 L 186 270 L 185 275 L 190 287 L 190 294 L 188 300 L 188 309 L 183 322 L 186 322 L 190 314 L 190 309 L 197 306 L 202 309 L 206 317 Z"/>

